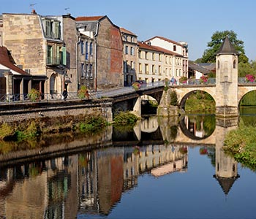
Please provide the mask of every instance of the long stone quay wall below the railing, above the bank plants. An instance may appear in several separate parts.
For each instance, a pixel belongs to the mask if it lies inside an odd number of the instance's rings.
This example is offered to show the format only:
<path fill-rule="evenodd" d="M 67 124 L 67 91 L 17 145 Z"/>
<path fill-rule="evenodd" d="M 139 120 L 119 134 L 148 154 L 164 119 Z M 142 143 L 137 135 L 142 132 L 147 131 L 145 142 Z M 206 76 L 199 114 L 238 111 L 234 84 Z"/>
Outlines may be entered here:
<path fill-rule="evenodd" d="M 77 115 L 102 115 L 108 122 L 112 118 L 111 99 L 37 101 L 0 104 L 0 123 L 12 123 L 33 118 L 59 118 Z"/>

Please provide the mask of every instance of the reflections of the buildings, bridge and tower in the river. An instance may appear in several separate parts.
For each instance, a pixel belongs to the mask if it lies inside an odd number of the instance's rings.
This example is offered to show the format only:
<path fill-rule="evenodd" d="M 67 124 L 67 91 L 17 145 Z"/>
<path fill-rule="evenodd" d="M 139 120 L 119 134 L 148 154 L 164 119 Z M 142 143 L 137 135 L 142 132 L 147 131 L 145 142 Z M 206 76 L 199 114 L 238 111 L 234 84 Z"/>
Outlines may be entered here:
<path fill-rule="evenodd" d="M 129 133 L 121 134 L 120 130 L 113 129 L 96 138 L 105 142 L 112 139 L 111 146 L 98 144 L 86 147 L 95 141 L 86 138 L 80 139 L 79 151 L 58 153 L 50 158 L 39 157 L 35 161 L 1 163 L 0 216 L 108 217 L 118 208 L 124 193 L 140 187 L 141 176 L 147 174 L 160 179 L 175 173 L 189 173 L 189 159 L 195 159 L 189 158 L 189 153 L 195 147 L 200 147 L 200 156 L 207 155 L 211 160 L 215 172 L 208 172 L 208 176 L 214 176 L 227 195 L 239 177 L 238 164 L 225 155 L 222 145 L 225 134 L 236 128 L 238 121 L 217 120 L 212 128 L 206 126 L 210 123 L 207 120 L 212 119 L 187 117 L 178 125 L 178 118 L 148 118 Z M 195 129 L 191 130 L 191 127 Z M 189 137 L 192 137 L 190 142 Z M 75 148 L 74 142 L 72 145 Z M 67 142 L 65 147 L 69 147 Z M 58 145 L 57 148 L 64 147 Z M 167 192 L 170 187 L 164 190 Z M 186 196 L 181 190 L 178 194 Z M 151 216 L 150 208 L 147 212 L 148 215 L 144 212 L 145 218 Z M 134 216 L 132 209 L 124 214 Z"/>

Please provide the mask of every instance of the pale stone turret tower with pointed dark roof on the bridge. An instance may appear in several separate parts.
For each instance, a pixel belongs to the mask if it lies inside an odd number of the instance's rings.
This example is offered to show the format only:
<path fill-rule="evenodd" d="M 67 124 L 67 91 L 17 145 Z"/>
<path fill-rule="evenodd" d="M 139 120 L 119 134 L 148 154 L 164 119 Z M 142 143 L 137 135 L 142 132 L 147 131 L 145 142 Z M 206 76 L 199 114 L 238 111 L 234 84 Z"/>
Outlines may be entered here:
<path fill-rule="evenodd" d="M 238 52 L 228 37 L 216 56 L 216 115 L 238 116 Z"/>

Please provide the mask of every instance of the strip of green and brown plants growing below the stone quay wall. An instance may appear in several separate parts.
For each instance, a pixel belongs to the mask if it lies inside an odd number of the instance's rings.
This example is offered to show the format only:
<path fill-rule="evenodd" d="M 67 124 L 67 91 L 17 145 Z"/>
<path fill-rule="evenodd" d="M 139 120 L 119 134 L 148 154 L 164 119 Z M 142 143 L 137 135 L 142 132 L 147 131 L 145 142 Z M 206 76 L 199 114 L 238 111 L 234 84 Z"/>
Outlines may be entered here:
<path fill-rule="evenodd" d="M 66 131 L 94 132 L 108 126 L 102 115 L 67 115 L 57 118 L 36 118 L 21 123 L 2 123 L 0 140 L 21 142 L 34 139 L 41 134 L 56 134 Z"/>

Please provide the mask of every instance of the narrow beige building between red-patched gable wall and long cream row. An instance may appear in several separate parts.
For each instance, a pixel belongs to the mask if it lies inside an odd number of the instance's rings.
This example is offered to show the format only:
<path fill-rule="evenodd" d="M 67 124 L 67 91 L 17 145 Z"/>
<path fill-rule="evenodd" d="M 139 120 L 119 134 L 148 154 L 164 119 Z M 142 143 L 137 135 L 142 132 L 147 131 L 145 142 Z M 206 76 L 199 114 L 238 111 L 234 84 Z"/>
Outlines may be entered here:
<path fill-rule="evenodd" d="M 121 36 L 124 44 L 124 86 L 132 85 L 137 80 L 136 69 L 138 63 L 138 42 L 137 35 L 125 28 L 120 28 Z"/>

